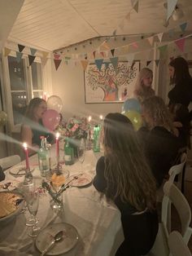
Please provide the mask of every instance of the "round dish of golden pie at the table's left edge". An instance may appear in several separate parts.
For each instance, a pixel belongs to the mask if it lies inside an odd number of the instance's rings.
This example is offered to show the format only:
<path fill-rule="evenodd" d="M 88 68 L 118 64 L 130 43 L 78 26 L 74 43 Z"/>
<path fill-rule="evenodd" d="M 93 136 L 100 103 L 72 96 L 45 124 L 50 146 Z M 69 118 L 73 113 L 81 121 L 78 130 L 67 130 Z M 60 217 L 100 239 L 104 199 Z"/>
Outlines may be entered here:
<path fill-rule="evenodd" d="M 24 208 L 24 196 L 20 192 L 0 192 L 0 223 L 11 220 Z"/>

